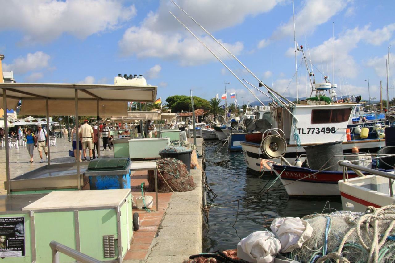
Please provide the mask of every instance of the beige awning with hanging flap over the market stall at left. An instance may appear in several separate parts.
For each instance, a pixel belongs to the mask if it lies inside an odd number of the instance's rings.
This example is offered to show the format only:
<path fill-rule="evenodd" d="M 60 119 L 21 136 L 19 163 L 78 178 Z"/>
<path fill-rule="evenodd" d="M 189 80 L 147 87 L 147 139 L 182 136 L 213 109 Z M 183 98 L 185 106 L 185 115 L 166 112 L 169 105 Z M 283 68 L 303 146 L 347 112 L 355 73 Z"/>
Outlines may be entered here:
<path fill-rule="evenodd" d="M 50 115 L 74 115 L 75 90 L 78 90 L 79 115 L 126 115 L 128 101 L 154 102 L 157 86 L 123 86 L 66 83 L 0 83 L 7 90 L 8 109 L 15 109 L 22 100 L 21 115 L 46 115 L 45 100 Z M 0 100 L 3 107 L 3 100 Z"/>

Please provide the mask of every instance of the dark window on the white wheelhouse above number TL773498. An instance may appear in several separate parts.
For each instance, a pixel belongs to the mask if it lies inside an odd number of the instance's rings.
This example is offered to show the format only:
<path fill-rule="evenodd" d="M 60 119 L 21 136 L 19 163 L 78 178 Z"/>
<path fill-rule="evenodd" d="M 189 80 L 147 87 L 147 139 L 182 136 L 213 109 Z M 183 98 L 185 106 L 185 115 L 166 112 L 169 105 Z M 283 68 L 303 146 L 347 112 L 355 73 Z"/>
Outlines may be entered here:
<path fill-rule="evenodd" d="M 351 109 L 319 109 L 311 111 L 311 123 L 346 122 L 350 118 Z"/>

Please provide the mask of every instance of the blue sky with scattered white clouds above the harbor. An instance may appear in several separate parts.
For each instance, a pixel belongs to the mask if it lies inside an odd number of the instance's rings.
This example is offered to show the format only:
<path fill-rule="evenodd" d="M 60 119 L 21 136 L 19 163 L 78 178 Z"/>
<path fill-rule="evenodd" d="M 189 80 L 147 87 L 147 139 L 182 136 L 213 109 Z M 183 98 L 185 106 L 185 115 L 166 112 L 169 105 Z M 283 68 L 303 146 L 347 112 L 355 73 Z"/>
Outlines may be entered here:
<path fill-rule="evenodd" d="M 285 96 L 310 96 L 301 51 L 295 61 L 291 0 L 174 1 L 263 83 Z M 170 0 L 0 0 L 0 5 L 3 70 L 12 70 L 17 82 L 113 84 L 118 74 L 142 74 L 158 86 L 162 101 L 191 90 L 209 100 L 225 92 L 224 83 L 229 83 L 228 102 L 234 101 L 231 92 L 238 104 L 256 101 L 246 81 L 258 86 L 258 80 Z M 296 41 L 316 83 L 328 76 L 338 96 L 360 94 L 368 100 L 369 92 L 380 98 L 382 80 L 385 99 L 395 1 L 295 0 L 294 5 Z M 392 53 L 390 99 L 395 97 Z"/>

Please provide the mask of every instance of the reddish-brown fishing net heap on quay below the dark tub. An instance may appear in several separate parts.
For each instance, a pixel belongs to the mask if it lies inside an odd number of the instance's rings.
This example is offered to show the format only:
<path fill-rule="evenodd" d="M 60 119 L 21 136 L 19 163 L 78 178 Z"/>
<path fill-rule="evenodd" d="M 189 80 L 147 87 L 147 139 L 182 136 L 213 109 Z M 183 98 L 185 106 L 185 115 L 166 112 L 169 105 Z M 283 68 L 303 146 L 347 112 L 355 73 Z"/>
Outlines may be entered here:
<path fill-rule="evenodd" d="M 158 167 L 158 192 L 186 192 L 195 189 L 195 183 L 189 175 L 186 165 L 174 158 L 156 161 Z M 155 192 L 154 171 L 148 171 L 148 192 Z M 171 188 L 171 189 L 170 189 Z"/>

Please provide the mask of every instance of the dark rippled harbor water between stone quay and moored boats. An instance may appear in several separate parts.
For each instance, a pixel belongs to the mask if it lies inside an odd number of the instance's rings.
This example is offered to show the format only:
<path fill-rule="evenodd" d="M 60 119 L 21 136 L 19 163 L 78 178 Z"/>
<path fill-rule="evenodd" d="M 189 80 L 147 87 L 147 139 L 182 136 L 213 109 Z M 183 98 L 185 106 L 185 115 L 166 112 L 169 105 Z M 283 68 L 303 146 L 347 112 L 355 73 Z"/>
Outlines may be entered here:
<path fill-rule="evenodd" d="M 342 209 L 340 197 L 289 198 L 280 180 L 274 182 L 274 175 L 249 173 L 242 152 L 228 152 L 227 145 L 221 146 L 218 141 L 206 141 L 204 146 L 207 183 L 218 196 L 207 198 L 214 207 L 209 211 L 207 227 L 203 227 L 203 252 L 236 248 L 237 242 L 250 233 L 269 229 L 276 217 L 303 217 Z M 230 161 L 224 167 L 213 164 L 226 159 Z M 262 190 L 271 184 L 269 192 Z M 239 201 L 238 212 L 237 201 L 219 205 L 246 197 L 252 198 Z"/>

